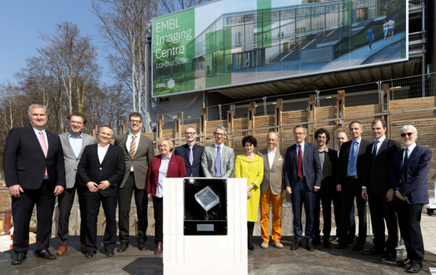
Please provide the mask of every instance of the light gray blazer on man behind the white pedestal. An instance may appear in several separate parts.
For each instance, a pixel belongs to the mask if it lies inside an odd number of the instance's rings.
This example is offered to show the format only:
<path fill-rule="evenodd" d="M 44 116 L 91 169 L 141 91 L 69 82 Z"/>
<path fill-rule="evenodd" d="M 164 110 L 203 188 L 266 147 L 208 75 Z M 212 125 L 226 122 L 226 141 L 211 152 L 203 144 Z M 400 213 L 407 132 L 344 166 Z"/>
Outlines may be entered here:
<path fill-rule="evenodd" d="M 217 161 L 217 153 L 215 152 L 215 144 L 205 147 L 205 151 L 201 154 L 201 169 L 205 177 L 215 177 L 215 162 Z M 231 177 L 235 168 L 235 152 L 230 147 L 224 145 L 221 153 L 221 177 Z"/>

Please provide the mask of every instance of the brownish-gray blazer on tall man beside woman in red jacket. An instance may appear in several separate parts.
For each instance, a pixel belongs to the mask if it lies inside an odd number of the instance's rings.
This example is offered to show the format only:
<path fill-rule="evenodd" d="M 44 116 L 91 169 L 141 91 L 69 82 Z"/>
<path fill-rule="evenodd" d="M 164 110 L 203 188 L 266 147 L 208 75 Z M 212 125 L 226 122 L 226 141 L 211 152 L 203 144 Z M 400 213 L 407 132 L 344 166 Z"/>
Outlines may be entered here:
<path fill-rule="evenodd" d="M 145 189 L 147 187 L 146 184 L 147 174 L 149 173 L 149 163 L 154 156 L 153 142 L 149 139 L 149 137 L 141 135 L 141 137 L 139 137 L 138 149 L 132 159 L 130 157 L 129 150 L 127 147 L 125 147 L 125 142 L 127 141 L 128 136 L 128 133 L 117 135 L 114 142 L 114 145 L 121 147 L 124 152 L 125 174 L 120 188 L 123 188 L 125 182 L 127 182 L 130 168 L 133 165 L 133 170 L 135 171 L 135 185 L 137 189 Z"/>

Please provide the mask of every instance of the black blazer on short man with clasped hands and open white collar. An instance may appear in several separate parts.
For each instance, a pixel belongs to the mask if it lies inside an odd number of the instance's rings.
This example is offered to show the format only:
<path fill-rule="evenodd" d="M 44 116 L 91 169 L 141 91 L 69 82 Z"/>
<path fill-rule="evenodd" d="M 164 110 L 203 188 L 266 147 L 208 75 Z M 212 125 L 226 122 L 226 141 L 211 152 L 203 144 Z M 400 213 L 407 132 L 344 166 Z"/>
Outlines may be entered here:
<path fill-rule="evenodd" d="M 91 193 L 86 186 L 88 182 L 95 182 L 97 185 L 107 180 L 111 184 L 107 189 L 99 190 L 102 196 L 118 196 L 118 187 L 125 173 L 125 161 L 123 149 L 118 146 L 109 145 L 102 163 L 98 159 L 97 143 L 88 145 L 83 149 L 82 157 L 77 166 L 79 180 L 83 185 L 83 195 L 90 196 Z"/>

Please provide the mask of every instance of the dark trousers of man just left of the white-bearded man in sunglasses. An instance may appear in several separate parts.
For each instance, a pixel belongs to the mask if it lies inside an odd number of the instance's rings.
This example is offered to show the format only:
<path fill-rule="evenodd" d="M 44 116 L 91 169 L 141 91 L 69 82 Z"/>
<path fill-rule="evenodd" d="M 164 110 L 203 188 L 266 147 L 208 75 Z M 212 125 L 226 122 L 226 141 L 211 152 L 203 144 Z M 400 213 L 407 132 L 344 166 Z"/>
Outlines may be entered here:
<path fill-rule="evenodd" d="M 387 201 L 386 195 L 378 196 L 371 191 L 368 194 L 369 212 L 371 213 L 374 246 L 388 253 L 396 253 L 398 242 L 397 217 L 393 201 Z M 388 240 L 385 241 L 385 220 L 388 227 Z"/>

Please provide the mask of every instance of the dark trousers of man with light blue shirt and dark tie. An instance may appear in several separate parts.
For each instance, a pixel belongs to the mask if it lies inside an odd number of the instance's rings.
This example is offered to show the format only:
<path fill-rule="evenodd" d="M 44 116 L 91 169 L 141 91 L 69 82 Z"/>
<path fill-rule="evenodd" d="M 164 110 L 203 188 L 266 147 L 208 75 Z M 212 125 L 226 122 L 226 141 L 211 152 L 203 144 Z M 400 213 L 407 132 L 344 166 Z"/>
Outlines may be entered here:
<path fill-rule="evenodd" d="M 363 246 L 367 241 L 367 219 L 365 199 L 362 199 L 362 187 L 357 179 L 347 178 L 341 189 L 341 222 L 342 224 L 350 224 L 350 210 L 353 207 L 354 199 L 356 199 L 357 216 L 359 217 L 359 236 L 356 243 Z M 341 243 L 348 243 L 348 227 L 341 227 Z"/>

